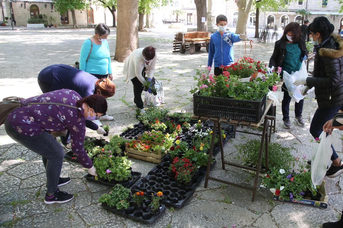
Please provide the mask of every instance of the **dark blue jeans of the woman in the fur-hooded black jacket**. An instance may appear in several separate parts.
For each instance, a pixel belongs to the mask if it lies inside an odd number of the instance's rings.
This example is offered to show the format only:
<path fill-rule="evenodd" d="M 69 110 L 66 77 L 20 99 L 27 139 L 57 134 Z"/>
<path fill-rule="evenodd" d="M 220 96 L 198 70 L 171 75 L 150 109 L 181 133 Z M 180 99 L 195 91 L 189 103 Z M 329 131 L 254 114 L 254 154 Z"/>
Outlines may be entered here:
<path fill-rule="evenodd" d="M 333 116 L 338 113 L 341 106 L 331 107 L 327 109 L 317 109 L 310 126 L 310 133 L 314 138 L 319 138 L 321 132 L 323 132 L 323 126 L 324 124 L 333 118 Z M 327 133 L 329 135 L 329 133 Z M 331 155 L 331 161 L 338 159 L 338 155 L 331 145 L 332 148 L 332 155 Z"/>

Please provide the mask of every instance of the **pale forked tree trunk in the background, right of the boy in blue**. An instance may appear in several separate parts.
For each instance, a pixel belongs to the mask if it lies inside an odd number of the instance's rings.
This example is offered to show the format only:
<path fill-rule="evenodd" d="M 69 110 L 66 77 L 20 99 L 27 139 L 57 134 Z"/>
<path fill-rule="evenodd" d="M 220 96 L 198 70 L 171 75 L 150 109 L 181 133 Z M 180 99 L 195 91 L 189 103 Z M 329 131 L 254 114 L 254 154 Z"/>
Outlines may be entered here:
<path fill-rule="evenodd" d="M 236 34 L 247 34 L 247 27 L 248 27 L 248 16 L 251 10 L 252 0 L 249 0 L 247 4 L 247 0 L 238 0 L 238 19 L 237 19 L 237 27 L 236 27 Z"/>

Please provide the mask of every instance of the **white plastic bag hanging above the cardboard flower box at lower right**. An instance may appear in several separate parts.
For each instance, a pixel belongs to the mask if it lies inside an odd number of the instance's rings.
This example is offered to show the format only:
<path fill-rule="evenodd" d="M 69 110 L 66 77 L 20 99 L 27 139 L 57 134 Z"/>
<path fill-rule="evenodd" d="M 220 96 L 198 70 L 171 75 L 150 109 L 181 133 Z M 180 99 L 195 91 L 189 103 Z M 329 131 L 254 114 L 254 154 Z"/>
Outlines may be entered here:
<path fill-rule="evenodd" d="M 321 185 L 325 175 L 326 167 L 328 166 L 332 155 L 331 140 L 332 136 L 326 137 L 326 132 L 322 132 L 319 136 L 320 143 L 315 143 L 313 147 L 311 160 L 311 179 L 314 186 Z"/>

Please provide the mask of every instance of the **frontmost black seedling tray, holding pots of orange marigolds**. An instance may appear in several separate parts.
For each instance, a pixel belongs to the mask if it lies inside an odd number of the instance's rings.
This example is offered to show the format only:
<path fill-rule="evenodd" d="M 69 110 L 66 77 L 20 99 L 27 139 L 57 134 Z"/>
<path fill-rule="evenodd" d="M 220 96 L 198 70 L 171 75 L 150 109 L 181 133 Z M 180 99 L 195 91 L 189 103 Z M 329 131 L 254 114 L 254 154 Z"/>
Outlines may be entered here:
<path fill-rule="evenodd" d="M 130 207 L 125 211 L 118 211 L 115 207 L 107 206 L 106 203 L 102 203 L 101 206 L 107 211 L 111 211 L 126 218 L 131 218 L 145 224 L 153 224 L 166 211 L 166 206 L 161 204 L 161 207 L 159 207 L 159 213 L 157 215 L 152 215 L 149 208 L 150 203 L 150 200 L 144 200 L 142 208 L 134 208 L 132 203 L 130 203 Z"/>

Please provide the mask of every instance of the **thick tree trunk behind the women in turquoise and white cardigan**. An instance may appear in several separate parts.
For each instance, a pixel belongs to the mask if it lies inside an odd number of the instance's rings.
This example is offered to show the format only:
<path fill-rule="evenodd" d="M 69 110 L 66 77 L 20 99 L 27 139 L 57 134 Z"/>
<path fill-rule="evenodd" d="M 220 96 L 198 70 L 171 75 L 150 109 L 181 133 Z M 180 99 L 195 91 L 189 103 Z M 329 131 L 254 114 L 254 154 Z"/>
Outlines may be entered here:
<path fill-rule="evenodd" d="M 123 62 L 133 50 L 139 48 L 137 27 L 138 0 L 118 0 L 117 9 L 118 26 L 114 59 L 118 62 Z"/>

